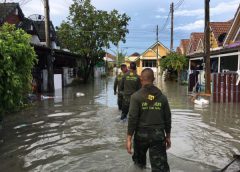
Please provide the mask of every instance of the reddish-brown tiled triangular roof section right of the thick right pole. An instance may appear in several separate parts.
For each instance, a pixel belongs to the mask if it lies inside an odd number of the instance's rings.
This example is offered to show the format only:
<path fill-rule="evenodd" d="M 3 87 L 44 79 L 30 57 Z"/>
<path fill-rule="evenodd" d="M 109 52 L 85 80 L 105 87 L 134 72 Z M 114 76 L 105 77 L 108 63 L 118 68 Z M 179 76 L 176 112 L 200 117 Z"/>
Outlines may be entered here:
<path fill-rule="evenodd" d="M 232 22 L 211 22 L 210 28 L 213 32 L 217 42 L 218 46 L 221 46 L 225 36 L 227 35 L 229 29 L 231 28 Z"/>

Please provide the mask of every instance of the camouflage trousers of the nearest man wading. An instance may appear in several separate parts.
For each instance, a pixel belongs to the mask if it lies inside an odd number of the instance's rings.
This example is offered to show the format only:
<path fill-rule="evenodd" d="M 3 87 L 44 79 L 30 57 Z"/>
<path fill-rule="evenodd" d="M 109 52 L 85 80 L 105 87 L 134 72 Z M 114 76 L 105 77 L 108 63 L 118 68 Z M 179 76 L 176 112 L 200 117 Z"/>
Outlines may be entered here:
<path fill-rule="evenodd" d="M 140 168 L 146 166 L 146 153 L 149 150 L 149 158 L 152 172 L 169 172 L 167 162 L 165 134 L 161 129 L 140 129 L 134 135 L 133 161 Z"/>

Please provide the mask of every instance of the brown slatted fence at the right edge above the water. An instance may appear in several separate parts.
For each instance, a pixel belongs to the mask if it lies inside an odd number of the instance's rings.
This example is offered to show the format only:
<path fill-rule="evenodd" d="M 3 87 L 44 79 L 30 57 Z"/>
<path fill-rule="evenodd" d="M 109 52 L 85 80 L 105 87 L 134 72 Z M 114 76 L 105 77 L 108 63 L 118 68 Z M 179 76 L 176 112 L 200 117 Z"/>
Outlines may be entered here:
<path fill-rule="evenodd" d="M 213 101 L 214 102 L 240 102 L 240 83 L 236 85 L 236 73 L 213 74 Z"/>

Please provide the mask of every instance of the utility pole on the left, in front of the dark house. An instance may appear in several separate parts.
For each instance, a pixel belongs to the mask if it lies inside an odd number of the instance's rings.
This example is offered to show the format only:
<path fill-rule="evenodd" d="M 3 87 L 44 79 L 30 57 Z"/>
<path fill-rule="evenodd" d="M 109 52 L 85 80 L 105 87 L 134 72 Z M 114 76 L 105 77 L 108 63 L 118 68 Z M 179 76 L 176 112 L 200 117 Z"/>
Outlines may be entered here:
<path fill-rule="evenodd" d="M 48 93 L 54 93 L 54 74 L 53 74 L 52 47 L 51 47 L 51 41 L 50 41 L 50 17 L 49 17 L 48 0 L 44 0 L 44 11 L 45 11 L 46 46 L 50 48 L 50 54 L 47 56 Z"/>

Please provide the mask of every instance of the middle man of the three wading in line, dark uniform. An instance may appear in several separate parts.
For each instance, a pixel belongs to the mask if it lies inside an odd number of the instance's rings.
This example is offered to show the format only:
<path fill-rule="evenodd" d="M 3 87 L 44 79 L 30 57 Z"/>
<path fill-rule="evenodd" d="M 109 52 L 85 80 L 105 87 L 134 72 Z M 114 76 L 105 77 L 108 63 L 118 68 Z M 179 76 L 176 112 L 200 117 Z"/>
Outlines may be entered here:
<path fill-rule="evenodd" d="M 131 95 L 141 88 L 141 82 L 139 76 L 136 74 L 136 68 L 136 63 L 131 62 L 130 71 L 127 72 L 122 78 L 120 89 L 123 92 L 121 120 L 127 117 Z"/>

